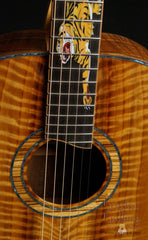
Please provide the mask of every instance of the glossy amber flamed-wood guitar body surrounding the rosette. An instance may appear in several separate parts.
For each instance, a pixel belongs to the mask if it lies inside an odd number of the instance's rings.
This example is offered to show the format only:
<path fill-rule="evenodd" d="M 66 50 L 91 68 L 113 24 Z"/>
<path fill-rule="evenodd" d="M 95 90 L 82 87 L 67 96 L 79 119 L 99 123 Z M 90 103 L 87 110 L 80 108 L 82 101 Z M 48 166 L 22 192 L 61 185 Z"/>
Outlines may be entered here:
<path fill-rule="evenodd" d="M 24 139 L 44 126 L 44 34 L 8 34 L 1 37 L 0 46 L 0 239 L 37 240 L 42 215 L 15 194 L 11 173 L 21 195 L 20 172 L 13 172 L 12 159 Z M 62 220 L 45 216 L 44 240 L 51 239 L 51 227 L 53 240 L 148 238 L 148 51 L 124 37 L 102 34 L 99 66 L 94 144 L 101 142 L 97 129 L 112 139 L 102 144 L 111 159 L 120 152 L 122 169 L 116 171 L 122 176 L 96 210 Z M 116 152 L 111 150 L 114 143 Z"/>

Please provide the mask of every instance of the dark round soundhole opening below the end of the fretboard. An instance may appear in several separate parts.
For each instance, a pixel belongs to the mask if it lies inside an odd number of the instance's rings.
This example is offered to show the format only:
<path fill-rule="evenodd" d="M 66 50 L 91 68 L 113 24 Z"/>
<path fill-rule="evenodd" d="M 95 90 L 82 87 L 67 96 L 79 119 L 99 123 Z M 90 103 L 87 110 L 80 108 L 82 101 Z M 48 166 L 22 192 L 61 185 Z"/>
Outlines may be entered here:
<path fill-rule="evenodd" d="M 95 146 L 80 149 L 50 141 L 47 159 L 47 201 L 52 202 L 53 197 L 58 204 L 83 201 L 96 193 L 105 181 L 106 162 Z M 45 162 L 46 144 L 32 155 L 27 168 L 28 183 L 41 198 L 44 196 Z"/>

